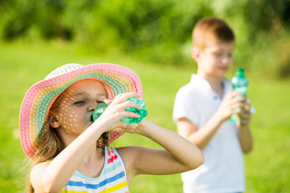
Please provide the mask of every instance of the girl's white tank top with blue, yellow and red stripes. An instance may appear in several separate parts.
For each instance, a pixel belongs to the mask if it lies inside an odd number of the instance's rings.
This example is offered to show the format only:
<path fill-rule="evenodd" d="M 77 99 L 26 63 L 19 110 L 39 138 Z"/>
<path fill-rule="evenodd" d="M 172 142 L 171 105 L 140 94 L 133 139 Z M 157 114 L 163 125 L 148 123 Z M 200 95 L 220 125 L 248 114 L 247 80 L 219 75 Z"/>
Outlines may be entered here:
<path fill-rule="evenodd" d="M 105 147 L 105 163 L 101 175 L 90 178 L 77 170 L 61 193 L 128 193 L 126 168 L 116 148 Z"/>

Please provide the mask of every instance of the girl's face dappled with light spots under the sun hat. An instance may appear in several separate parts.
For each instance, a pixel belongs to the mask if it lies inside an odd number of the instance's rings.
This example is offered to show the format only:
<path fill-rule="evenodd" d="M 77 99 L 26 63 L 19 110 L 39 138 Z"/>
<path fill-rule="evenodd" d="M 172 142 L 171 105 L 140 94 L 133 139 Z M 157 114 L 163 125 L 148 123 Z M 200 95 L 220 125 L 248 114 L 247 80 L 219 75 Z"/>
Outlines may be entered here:
<path fill-rule="evenodd" d="M 64 91 L 57 110 L 52 112 L 56 120 L 50 125 L 61 135 L 79 136 L 93 123 L 90 116 L 105 99 L 106 90 L 99 81 L 78 81 Z"/>

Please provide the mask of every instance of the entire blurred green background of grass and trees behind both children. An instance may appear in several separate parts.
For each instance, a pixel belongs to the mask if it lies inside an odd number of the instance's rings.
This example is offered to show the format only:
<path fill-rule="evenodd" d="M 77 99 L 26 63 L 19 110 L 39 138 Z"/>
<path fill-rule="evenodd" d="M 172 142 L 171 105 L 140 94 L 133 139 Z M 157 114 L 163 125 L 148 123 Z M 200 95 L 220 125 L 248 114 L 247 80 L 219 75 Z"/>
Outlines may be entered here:
<path fill-rule="evenodd" d="M 65 63 L 109 62 L 135 70 L 147 119 L 176 132 L 175 94 L 196 70 L 191 32 L 209 16 L 235 32 L 234 65 L 226 77 L 245 68 L 256 109 L 246 192 L 290 192 L 289 0 L 0 0 L 0 192 L 23 192 L 26 185 L 18 130 L 24 94 Z M 114 145 L 160 148 L 132 134 Z M 182 192 L 180 174 L 137 176 L 131 192 Z"/>

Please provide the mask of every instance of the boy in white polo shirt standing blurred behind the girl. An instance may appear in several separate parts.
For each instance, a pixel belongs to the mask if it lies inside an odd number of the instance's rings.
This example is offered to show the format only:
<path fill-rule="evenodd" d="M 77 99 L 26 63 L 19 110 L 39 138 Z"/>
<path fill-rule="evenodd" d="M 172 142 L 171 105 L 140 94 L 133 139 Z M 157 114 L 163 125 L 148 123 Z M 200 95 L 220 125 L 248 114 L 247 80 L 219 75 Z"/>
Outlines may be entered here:
<path fill-rule="evenodd" d="M 224 79 L 232 65 L 234 43 L 233 31 L 220 19 L 202 19 L 193 30 L 197 74 L 177 92 L 173 119 L 178 133 L 202 150 L 204 164 L 182 173 L 184 192 L 245 190 L 242 153 L 253 148 L 250 105 Z M 240 124 L 229 121 L 234 113 L 242 117 Z"/>

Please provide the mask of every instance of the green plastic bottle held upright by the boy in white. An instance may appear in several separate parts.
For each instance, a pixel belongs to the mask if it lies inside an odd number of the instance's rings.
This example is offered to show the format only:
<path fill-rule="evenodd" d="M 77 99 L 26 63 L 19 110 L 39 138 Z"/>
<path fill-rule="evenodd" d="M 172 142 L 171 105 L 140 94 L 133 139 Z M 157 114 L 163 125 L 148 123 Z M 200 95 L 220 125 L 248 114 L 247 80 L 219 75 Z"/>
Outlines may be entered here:
<path fill-rule="evenodd" d="M 246 96 L 248 90 L 248 79 L 244 75 L 244 68 L 238 68 L 237 72 L 235 72 L 235 76 L 231 79 L 231 85 L 233 86 L 233 90 L 239 90 L 240 95 Z M 238 112 L 241 111 L 240 108 L 237 109 Z M 233 114 L 231 116 L 231 121 L 234 123 L 240 124 L 240 116 L 238 114 Z"/>

